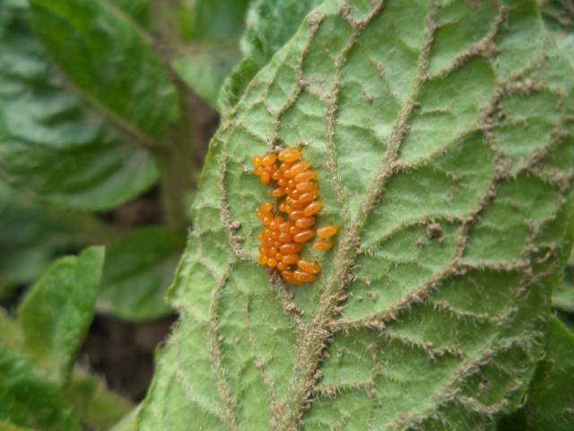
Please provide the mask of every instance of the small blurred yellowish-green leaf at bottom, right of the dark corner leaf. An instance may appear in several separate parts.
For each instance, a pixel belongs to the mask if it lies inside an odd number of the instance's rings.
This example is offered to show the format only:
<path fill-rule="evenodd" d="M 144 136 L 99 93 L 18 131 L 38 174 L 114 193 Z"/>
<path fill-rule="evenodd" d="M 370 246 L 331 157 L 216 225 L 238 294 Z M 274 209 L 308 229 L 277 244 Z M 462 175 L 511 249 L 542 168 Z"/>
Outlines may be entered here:
<path fill-rule="evenodd" d="M 109 391 L 103 380 L 77 366 L 65 395 L 83 424 L 93 431 L 109 430 L 134 408 L 131 402 Z"/>

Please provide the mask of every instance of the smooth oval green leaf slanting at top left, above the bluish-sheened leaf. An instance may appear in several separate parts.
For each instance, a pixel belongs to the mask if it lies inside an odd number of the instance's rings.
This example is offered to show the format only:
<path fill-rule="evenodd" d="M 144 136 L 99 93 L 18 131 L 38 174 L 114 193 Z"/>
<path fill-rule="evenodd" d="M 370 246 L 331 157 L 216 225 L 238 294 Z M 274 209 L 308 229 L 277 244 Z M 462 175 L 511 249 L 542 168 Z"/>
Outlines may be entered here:
<path fill-rule="evenodd" d="M 152 44 L 107 2 L 32 0 L 36 34 L 84 97 L 139 139 L 178 118 L 175 85 Z"/>

